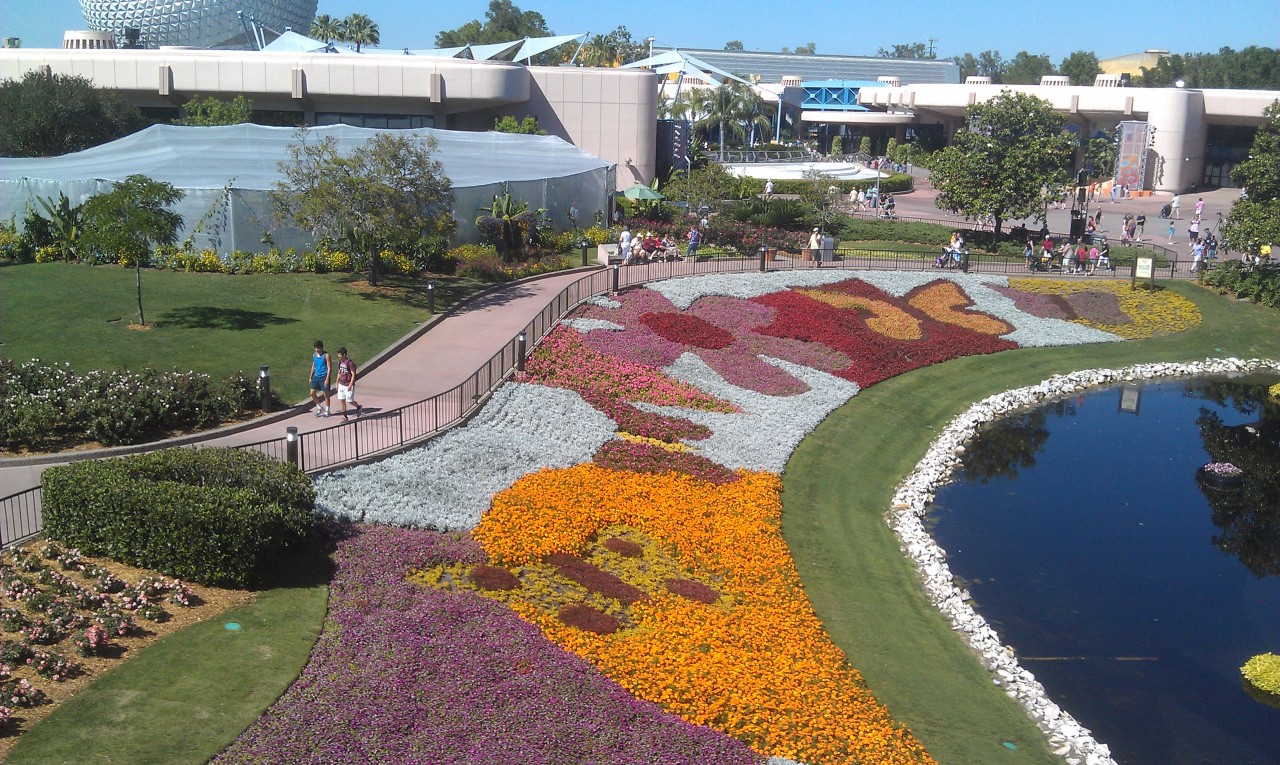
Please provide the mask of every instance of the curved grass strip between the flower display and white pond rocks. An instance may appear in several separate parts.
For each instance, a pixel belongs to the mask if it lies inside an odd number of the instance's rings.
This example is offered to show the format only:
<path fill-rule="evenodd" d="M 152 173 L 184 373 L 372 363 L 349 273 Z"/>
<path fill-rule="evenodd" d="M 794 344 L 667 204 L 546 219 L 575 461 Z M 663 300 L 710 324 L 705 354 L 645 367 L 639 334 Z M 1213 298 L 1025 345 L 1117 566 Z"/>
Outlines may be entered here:
<path fill-rule="evenodd" d="M 1153 340 L 1007 351 L 916 370 L 856 395 L 787 464 L 782 531 L 818 615 L 876 696 L 942 765 L 1057 760 L 922 594 L 883 518 L 892 493 L 941 427 L 1001 390 L 1089 367 L 1280 357 L 1280 312 L 1196 284 L 1170 288 L 1199 304 L 1199 327 Z M 1006 741 L 1018 748 L 1006 748 Z"/>

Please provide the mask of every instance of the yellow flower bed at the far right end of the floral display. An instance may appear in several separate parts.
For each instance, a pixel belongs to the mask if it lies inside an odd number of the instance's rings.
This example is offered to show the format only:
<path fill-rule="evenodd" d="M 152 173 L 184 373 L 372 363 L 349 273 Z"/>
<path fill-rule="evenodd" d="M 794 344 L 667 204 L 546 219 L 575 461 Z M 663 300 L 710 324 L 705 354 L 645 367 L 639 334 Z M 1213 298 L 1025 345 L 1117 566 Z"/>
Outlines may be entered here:
<path fill-rule="evenodd" d="M 1196 303 L 1167 289 L 1132 289 L 1125 281 L 1056 281 L 1041 279 L 1010 279 L 1009 287 L 1039 294 L 1069 296 L 1078 292 L 1108 292 L 1120 301 L 1120 310 L 1130 324 L 1100 324 L 1076 319 L 1076 324 L 1102 331 L 1142 340 L 1174 335 L 1198 326 L 1202 316 Z"/>

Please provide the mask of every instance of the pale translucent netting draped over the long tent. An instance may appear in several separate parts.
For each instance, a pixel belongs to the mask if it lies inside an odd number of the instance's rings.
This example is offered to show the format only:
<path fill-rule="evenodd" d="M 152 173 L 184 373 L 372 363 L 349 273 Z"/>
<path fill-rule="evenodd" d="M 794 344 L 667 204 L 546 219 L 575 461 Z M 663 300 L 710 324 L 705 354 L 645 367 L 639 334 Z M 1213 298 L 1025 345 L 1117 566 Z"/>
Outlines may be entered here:
<path fill-rule="evenodd" d="M 338 151 L 349 154 L 376 133 L 431 136 L 434 159 L 453 182 L 458 238 L 476 241 L 475 217 L 494 194 L 509 192 L 543 207 L 559 226 L 594 219 L 607 210 L 613 192 L 614 168 L 554 136 L 474 133 L 419 128 L 379 130 L 329 125 L 308 128 L 307 139 L 333 136 Z M 186 128 L 154 125 L 132 136 L 60 157 L 0 159 L 0 216 L 20 221 L 36 197 L 67 194 L 73 205 L 109 191 L 133 174 L 172 183 L 186 192 L 174 210 L 182 215 L 179 239 L 192 237 L 196 247 L 262 249 L 270 232 L 280 247 L 305 244 L 310 234 L 273 223 L 270 191 L 284 180 L 278 162 L 288 160 L 288 147 L 298 141 L 294 128 L 228 125 Z M 200 232 L 193 233 L 201 221 Z"/>

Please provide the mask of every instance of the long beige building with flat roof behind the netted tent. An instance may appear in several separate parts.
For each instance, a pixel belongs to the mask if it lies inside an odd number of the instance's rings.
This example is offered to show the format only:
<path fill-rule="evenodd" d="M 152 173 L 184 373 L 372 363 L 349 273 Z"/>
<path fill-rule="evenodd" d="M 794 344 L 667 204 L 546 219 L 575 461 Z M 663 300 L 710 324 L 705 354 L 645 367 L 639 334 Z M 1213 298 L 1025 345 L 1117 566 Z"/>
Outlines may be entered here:
<path fill-rule="evenodd" d="M 655 74 L 525 67 L 398 54 L 224 50 L 0 50 L 0 79 L 78 74 L 143 109 L 243 93 L 253 109 L 307 125 L 485 130 L 536 116 L 548 133 L 617 165 L 618 187 L 649 183 L 657 154 Z"/>

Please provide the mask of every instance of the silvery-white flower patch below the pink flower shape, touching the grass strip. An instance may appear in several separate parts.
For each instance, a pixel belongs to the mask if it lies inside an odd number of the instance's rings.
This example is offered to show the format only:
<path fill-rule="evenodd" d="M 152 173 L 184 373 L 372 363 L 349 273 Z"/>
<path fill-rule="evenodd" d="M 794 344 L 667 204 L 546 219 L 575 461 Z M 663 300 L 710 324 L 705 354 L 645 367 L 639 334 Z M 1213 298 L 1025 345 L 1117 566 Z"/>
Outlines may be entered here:
<path fill-rule="evenodd" d="M 696 385 L 737 406 L 741 412 L 727 414 L 678 407 L 636 406 L 709 427 L 709 438 L 685 443 L 713 462 L 735 469 L 744 467 L 780 473 L 809 431 L 856 395 L 859 389 L 855 382 L 806 366 L 765 356 L 760 359 L 795 375 L 809 385 L 809 390 L 796 395 L 765 395 L 746 390 L 726 382 L 700 356 L 684 353 L 664 371 L 676 380 Z"/>

